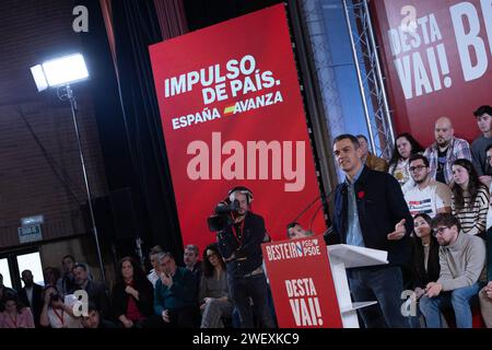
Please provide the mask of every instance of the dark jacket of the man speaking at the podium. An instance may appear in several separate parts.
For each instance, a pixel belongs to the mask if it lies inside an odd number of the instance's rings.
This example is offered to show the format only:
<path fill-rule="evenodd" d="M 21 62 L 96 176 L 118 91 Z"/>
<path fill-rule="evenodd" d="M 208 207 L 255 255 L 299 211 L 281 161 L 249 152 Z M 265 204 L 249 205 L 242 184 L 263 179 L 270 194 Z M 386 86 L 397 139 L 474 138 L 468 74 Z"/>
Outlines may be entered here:
<path fill-rule="evenodd" d="M 349 226 L 347 186 L 347 183 L 343 182 L 335 189 L 332 234 L 338 235 L 339 242 L 343 244 L 347 244 Z M 398 182 L 388 173 L 372 171 L 364 166 L 361 176 L 355 182 L 354 189 L 365 247 L 388 252 L 389 265 L 410 264 L 411 243 L 409 238 L 410 232 L 413 230 L 413 219 Z M 389 241 L 388 233 L 395 231 L 395 225 L 401 219 L 406 219 L 407 234 L 399 241 Z"/>

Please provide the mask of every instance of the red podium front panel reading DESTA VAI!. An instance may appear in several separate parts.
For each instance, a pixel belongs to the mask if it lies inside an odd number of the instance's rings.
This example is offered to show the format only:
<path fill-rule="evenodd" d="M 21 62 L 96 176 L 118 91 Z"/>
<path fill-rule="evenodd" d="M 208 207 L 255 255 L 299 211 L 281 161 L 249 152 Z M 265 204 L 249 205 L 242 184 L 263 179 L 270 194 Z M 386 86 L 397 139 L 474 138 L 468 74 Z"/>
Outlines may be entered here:
<path fill-rule="evenodd" d="M 263 244 L 262 249 L 279 327 L 342 327 L 321 236 Z"/>

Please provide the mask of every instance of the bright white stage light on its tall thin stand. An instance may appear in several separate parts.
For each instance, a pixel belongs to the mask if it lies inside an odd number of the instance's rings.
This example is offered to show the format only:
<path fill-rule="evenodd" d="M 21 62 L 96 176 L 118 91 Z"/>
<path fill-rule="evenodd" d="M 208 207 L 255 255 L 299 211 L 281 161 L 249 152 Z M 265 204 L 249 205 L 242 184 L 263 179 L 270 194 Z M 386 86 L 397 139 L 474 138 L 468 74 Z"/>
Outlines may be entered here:
<path fill-rule="evenodd" d="M 104 264 L 101 254 L 99 240 L 97 235 L 97 228 L 94 218 L 94 210 L 92 205 L 91 188 L 89 186 L 87 173 L 85 171 L 84 153 L 82 151 L 82 142 L 79 133 L 79 126 L 77 122 L 77 101 L 73 95 L 73 90 L 70 84 L 83 81 L 89 78 L 87 67 L 85 66 L 84 57 L 81 54 L 73 54 L 63 56 L 40 65 L 31 67 L 34 81 L 36 82 L 37 91 L 42 92 L 48 88 L 57 88 L 58 97 L 61 101 L 70 101 L 72 109 L 73 127 L 75 129 L 77 143 L 79 145 L 79 156 L 82 165 L 82 173 L 85 182 L 85 190 L 87 195 L 89 211 L 91 215 L 92 231 L 94 234 L 95 245 L 97 249 L 97 259 L 99 262 L 101 277 L 103 283 L 106 284 L 106 276 L 104 272 Z"/>

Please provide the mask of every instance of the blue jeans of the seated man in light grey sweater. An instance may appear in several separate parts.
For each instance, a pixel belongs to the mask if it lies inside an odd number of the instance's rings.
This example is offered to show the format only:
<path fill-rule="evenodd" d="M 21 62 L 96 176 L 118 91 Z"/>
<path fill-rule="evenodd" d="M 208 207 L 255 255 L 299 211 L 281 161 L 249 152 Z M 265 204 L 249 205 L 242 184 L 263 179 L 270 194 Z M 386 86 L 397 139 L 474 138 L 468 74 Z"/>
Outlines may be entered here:
<path fill-rule="evenodd" d="M 471 328 L 472 317 L 470 300 L 478 294 L 479 283 L 470 287 L 455 289 L 452 292 L 442 292 L 440 295 L 429 298 L 422 296 L 420 300 L 420 311 L 425 317 L 427 328 L 442 328 L 441 311 L 453 307 L 455 311 L 456 326 L 458 328 Z"/>

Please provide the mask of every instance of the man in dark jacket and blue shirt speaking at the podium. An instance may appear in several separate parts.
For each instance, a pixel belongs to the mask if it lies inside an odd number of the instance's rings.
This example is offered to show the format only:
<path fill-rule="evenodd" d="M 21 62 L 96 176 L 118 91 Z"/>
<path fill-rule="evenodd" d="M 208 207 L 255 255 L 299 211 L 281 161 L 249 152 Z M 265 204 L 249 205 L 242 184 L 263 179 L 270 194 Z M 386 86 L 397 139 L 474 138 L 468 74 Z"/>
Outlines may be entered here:
<path fill-rule="evenodd" d="M 413 221 L 398 182 L 364 166 L 358 139 L 341 135 L 333 153 L 345 180 L 335 189 L 333 231 L 341 243 L 388 252 L 388 265 L 350 269 L 355 302 L 377 301 L 360 310 L 367 328 L 408 327 L 401 315 L 401 266 L 410 260 Z"/>

